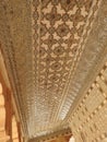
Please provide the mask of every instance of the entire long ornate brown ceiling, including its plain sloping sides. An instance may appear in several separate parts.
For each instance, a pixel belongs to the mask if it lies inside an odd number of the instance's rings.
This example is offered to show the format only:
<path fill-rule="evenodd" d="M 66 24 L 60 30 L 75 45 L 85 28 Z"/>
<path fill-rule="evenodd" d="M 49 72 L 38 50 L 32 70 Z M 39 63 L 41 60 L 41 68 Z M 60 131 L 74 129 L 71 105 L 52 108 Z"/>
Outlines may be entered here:
<path fill-rule="evenodd" d="M 75 98 L 107 54 L 106 7 L 106 0 L 0 1 L 1 49 L 28 139 L 68 128 Z"/>

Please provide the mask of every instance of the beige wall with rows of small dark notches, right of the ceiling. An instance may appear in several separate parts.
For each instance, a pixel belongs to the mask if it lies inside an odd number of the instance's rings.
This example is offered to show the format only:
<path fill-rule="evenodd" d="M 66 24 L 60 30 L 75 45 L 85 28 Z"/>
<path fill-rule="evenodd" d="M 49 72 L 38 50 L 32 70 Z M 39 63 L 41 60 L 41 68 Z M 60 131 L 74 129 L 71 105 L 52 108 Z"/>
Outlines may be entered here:
<path fill-rule="evenodd" d="M 75 142 L 107 142 L 107 62 L 70 119 Z"/>

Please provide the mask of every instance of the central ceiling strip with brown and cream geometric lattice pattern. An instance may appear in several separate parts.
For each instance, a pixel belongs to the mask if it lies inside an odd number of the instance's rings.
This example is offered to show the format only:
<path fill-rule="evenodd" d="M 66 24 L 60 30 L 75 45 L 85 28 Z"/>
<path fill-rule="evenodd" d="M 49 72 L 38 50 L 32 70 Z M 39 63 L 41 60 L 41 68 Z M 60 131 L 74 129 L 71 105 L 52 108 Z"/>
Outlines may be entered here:
<path fill-rule="evenodd" d="M 50 123 L 51 127 L 54 121 L 60 123 L 66 117 L 63 113 L 60 118 L 56 118 L 79 43 L 86 28 L 85 23 L 90 26 L 97 7 L 98 1 L 94 3 L 92 0 L 34 0 L 35 107 L 37 114 L 39 113 L 39 116 L 36 115 L 36 126 L 39 128 L 39 123 L 44 127 Z"/>

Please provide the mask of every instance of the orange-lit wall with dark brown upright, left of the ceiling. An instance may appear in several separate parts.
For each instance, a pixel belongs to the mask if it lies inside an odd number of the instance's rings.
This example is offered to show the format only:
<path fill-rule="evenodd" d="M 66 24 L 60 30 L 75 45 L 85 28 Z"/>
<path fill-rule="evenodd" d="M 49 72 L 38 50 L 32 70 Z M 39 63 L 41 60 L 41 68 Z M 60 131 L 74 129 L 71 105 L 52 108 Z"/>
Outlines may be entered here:
<path fill-rule="evenodd" d="M 17 111 L 13 105 L 13 95 L 8 78 L 0 50 L 0 142 L 23 142 L 21 123 L 15 119 Z"/>

